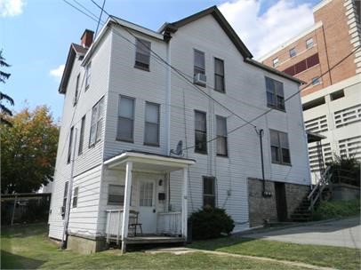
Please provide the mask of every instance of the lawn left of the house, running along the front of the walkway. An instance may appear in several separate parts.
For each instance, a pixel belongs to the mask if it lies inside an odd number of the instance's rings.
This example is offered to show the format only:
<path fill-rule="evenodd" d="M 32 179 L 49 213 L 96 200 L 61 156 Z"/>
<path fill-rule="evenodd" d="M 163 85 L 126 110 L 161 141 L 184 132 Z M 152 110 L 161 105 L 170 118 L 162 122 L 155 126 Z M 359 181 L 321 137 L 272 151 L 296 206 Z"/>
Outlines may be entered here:
<path fill-rule="evenodd" d="M 107 250 L 81 255 L 60 250 L 47 238 L 45 225 L 3 228 L 1 269 L 302 269 L 257 259 L 214 256 L 201 252 L 184 255 Z"/>

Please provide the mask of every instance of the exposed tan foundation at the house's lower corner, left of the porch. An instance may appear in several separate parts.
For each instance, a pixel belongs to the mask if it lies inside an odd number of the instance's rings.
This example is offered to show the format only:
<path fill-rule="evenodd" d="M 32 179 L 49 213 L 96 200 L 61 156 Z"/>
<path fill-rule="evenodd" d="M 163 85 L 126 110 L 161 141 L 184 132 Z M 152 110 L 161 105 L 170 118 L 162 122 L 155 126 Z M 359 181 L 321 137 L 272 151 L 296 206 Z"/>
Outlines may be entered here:
<path fill-rule="evenodd" d="M 68 235 L 68 250 L 74 250 L 82 254 L 92 254 L 105 250 L 105 238 L 96 237 L 93 239 L 79 235 Z"/>

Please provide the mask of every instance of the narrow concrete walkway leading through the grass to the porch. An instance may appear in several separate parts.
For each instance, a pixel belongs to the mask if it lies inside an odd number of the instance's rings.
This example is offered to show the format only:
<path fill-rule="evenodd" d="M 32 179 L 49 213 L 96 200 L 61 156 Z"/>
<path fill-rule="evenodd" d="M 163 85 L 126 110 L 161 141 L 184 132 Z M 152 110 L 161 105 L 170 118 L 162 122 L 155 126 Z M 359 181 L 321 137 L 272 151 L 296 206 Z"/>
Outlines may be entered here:
<path fill-rule="evenodd" d="M 286 266 L 297 266 L 306 269 L 315 269 L 315 270 L 334 270 L 334 268 L 330 267 L 323 267 L 323 266 L 312 266 L 305 263 L 300 262 L 293 262 L 288 260 L 278 260 L 275 258 L 264 258 L 264 257 L 255 257 L 255 256 L 247 256 L 247 255 L 240 255 L 240 254 L 233 254 L 228 252 L 221 252 L 221 251 L 213 251 L 213 250 L 196 250 L 196 249 L 189 249 L 189 248 L 168 248 L 168 249 L 156 249 L 156 250 L 147 250 L 146 253 L 156 254 L 156 253 L 172 253 L 175 255 L 182 255 L 191 252 L 202 252 L 207 254 L 213 254 L 215 256 L 225 256 L 225 257 L 234 257 L 234 258 L 247 258 L 247 259 L 256 259 L 261 261 L 268 261 L 273 263 L 279 263 Z"/>

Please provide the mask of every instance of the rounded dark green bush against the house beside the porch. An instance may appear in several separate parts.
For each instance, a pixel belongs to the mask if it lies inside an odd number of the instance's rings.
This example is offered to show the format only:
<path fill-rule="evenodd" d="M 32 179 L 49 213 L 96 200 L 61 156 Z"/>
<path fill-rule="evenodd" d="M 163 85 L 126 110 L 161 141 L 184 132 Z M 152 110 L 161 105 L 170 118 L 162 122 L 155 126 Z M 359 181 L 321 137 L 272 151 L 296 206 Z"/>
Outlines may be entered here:
<path fill-rule="evenodd" d="M 230 234 L 235 222 L 220 208 L 205 207 L 189 217 L 193 239 L 210 239 Z"/>

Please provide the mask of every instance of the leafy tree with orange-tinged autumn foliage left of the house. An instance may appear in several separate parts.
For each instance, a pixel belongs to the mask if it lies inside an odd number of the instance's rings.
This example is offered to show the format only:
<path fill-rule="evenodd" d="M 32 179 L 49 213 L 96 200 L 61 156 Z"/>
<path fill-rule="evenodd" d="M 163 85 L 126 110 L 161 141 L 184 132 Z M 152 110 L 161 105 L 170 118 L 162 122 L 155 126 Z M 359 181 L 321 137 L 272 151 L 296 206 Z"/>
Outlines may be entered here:
<path fill-rule="evenodd" d="M 2 193 L 34 192 L 52 181 L 58 137 L 48 107 L 24 108 L 14 115 L 12 127 L 2 127 Z"/>

